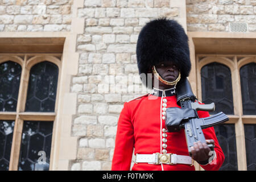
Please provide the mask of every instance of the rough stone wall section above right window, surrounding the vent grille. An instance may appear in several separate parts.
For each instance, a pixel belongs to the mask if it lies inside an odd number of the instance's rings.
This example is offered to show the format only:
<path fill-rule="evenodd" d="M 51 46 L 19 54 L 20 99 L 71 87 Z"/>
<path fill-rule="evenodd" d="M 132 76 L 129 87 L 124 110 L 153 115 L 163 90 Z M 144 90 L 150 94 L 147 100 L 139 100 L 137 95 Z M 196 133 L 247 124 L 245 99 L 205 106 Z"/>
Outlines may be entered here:
<path fill-rule="evenodd" d="M 229 31 L 229 22 L 256 32 L 255 0 L 187 0 L 188 31 Z"/>

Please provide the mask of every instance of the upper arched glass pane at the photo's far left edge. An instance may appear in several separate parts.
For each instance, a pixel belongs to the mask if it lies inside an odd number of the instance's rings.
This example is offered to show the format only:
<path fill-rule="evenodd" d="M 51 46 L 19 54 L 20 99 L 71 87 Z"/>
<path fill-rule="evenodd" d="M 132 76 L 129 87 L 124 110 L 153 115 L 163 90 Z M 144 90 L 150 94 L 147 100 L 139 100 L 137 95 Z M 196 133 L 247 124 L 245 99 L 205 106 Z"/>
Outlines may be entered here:
<path fill-rule="evenodd" d="M 21 72 L 13 61 L 0 64 L 0 111 L 16 111 Z"/>

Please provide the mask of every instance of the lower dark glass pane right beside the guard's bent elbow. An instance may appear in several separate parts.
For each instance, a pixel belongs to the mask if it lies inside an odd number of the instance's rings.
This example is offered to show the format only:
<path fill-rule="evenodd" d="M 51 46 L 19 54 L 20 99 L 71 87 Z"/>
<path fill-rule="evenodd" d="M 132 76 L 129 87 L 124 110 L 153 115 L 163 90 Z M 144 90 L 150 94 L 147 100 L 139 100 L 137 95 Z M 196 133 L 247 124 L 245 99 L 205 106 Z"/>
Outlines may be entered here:
<path fill-rule="evenodd" d="M 233 124 L 214 126 L 216 137 L 225 155 L 220 171 L 237 171 L 236 133 Z"/>

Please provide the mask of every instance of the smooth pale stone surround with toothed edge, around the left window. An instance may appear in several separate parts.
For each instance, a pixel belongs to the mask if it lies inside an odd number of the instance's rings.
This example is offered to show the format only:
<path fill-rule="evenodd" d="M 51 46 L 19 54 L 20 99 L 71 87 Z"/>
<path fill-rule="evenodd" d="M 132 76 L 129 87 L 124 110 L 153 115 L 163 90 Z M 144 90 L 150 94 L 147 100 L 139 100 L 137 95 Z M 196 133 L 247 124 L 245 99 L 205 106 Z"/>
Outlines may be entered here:
<path fill-rule="evenodd" d="M 24 40 L 26 42 L 26 38 L 32 40 L 32 42 L 36 42 L 38 38 L 43 38 L 48 41 L 48 46 L 50 44 L 53 48 L 56 48 L 57 52 L 60 48 L 63 48 L 63 52 L 61 52 L 61 69 L 59 70 L 59 83 L 57 88 L 57 98 L 61 99 L 56 100 L 55 126 L 53 127 L 51 162 L 49 167 L 49 170 L 52 171 L 68 170 L 69 161 L 75 160 L 77 155 L 77 137 L 71 136 L 72 115 L 76 114 L 77 94 L 71 93 L 70 88 L 72 76 L 77 75 L 79 67 L 79 53 L 76 52 L 77 35 L 84 33 L 84 19 L 77 18 L 77 9 L 81 7 L 84 7 L 83 0 L 73 2 L 70 32 L 0 32 L 0 39 L 16 39 L 14 40 L 16 41 L 15 47 L 17 51 L 20 51 L 19 53 L 24 51 L 19 47 L 22 47 Z M 58 43 L 51 44 L 51 39 L 56 40 Z M 60 42 L 62 45 L 60 45 Z M 36 48 L 29 50 L 29 53 L 38 53 L 36 52 Z M 40 49 L 40 53 L 45 52 L 46 49 Z M 15 165 L 18 166 L 18 164 Z M 17 168 L 12 168 L 9 170 L 16 169 Z"/>

